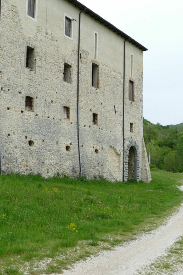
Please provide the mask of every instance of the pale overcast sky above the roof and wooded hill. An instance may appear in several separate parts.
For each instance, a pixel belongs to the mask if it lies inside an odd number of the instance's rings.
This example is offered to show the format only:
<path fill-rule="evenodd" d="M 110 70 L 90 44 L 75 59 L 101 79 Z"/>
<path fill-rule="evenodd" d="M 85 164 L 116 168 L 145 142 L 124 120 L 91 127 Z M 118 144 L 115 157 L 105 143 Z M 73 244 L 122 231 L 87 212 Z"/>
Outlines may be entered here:
<path fill-rule="evenodd" d="M 144 52 L 144 117 L 183 122 L 183 1 L 80 0 L 148 48 Z"/>

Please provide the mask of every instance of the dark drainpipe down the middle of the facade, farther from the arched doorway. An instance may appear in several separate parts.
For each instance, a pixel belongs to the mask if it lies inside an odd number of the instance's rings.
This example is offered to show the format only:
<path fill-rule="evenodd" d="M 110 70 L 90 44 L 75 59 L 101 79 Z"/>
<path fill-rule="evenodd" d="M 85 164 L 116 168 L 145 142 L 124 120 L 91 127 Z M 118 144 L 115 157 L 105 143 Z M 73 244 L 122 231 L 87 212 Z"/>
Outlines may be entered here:
<path fill-rule="evenodd" d="M 83 11 L 85 10 L 86 8 Z M 78 144 L 78 154 L 79 154 L 80 178 L 82 178 L 82 170 L 81 170 L 81 154 L 80 154 L 80 145 L 79 145 L 79 54 L 80 54 L 81 13 L 83 11 L 80 11 L 79 13 L 79 37 L 78 37 L 78 56 L 77 56 L 77 144 Z"/>

